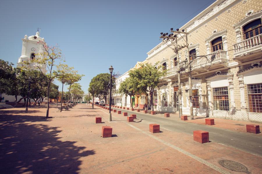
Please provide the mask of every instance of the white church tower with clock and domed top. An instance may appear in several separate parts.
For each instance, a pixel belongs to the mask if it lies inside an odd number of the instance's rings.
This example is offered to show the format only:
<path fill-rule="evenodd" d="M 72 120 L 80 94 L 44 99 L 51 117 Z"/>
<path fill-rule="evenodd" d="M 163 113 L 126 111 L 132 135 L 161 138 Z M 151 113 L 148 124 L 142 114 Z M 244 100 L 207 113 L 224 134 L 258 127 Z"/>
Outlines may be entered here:
<path fill-rule="evenodd" d="M 34 59 L 40 52 L 43 52 L 43 46 L 39 43 L 39 41 L 45 41 L 44 38 L 40 37 L 40 33 L 36 32 L 35 36 L 29 36 L 27 38 L 27 35 L 24 36 L 24 39 L 22 39 L 22 54 L 20 58 L 18 58 L 17 67 L 25 66 L 23 64 L 24 61 L 32 60 Z M 30 69 L 39 70 L 36 65 L 26 65 Z M 46 65 L 42 65 L 41 71 L 43 73 L 46 73 Z"/>

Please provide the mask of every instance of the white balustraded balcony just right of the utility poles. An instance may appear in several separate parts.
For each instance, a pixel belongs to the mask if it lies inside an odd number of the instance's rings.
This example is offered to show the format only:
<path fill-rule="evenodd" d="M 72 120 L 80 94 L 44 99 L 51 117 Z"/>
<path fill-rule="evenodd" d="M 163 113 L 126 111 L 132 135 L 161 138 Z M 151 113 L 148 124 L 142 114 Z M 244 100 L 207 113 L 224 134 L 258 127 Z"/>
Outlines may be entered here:
<path fill-rule="evenodd" d="M 208 54 L 206 57 L 199 57 L 191 61 L 191 70 L 197 74 L 206 72 L 212 69 L 224 67 L 226 58 L 226 51 L 217 50 Z"/>

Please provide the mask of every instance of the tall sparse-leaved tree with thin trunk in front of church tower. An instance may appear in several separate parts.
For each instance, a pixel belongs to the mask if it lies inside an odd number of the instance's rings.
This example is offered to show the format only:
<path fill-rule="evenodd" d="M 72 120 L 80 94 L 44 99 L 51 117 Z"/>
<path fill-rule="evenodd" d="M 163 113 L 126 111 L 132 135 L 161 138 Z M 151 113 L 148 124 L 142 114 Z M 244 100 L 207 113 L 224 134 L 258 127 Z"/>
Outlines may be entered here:
<path fill-rule="evenodd" d="M 58 46 L 48 46 L 45 41 L 39 41 L 40 44 L 40 52 L 36 54 L 36 56 L 29 60 L 24 61 L 26 65 L 36 66 L 43 76 L 47 79 L 47 111 L 46 111 L 46 119 L 48 119 L 49 115 L 49 94 L 50 94 L 50 85 L 54 78 L 59 76 L 57 71 L 53 69 L 54 63 L 57 59 L 61 60 L 61 50 Z M 42 72 L 43 67 L 47 67 L 47 73 Z M 27 68 L 27 67 L 24 67 Z"/>

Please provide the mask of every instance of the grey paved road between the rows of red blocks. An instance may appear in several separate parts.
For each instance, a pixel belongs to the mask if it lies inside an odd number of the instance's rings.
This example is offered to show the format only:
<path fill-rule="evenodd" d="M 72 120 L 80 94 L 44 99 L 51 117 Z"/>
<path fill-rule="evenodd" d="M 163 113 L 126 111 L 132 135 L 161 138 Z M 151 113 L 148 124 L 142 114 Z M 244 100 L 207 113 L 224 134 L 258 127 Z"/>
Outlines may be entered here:
<path fill-rule="evenodd" d="M 119 109 L 119 108 L 117 108 Z M 203 130 L 209 132 L 209 140 L 231 146 L 242 151 L 252 153 L 262 157 L 262 137 L 252 133 L 240 133 L 227 129 L 210 127 L 206 125 L 194 124 L 180 120 L 170 120 L 164 117 L 153 116 L 149 114 L 138 113 L 119 109 L 130 114 L 137 114 L 137 118 L 142 119 L 143 123 L 157 123 L 161 128 L 169 131 L 182 132 L 192 135 L 195 130 Z"/>

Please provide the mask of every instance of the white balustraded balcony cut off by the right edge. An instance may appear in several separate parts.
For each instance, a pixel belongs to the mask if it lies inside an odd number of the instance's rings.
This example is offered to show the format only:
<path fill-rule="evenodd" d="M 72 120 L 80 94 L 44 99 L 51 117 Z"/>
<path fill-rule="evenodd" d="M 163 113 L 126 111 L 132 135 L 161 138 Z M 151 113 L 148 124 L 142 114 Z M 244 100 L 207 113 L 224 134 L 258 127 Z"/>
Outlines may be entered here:
<path fill-rule="evenodd" d="M 243 63 L 261 58 L 262 34 L 238 42 L 234 46 L 233 59 Z"/>

